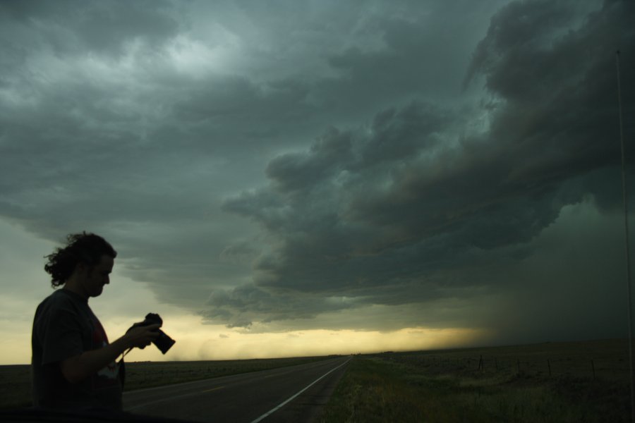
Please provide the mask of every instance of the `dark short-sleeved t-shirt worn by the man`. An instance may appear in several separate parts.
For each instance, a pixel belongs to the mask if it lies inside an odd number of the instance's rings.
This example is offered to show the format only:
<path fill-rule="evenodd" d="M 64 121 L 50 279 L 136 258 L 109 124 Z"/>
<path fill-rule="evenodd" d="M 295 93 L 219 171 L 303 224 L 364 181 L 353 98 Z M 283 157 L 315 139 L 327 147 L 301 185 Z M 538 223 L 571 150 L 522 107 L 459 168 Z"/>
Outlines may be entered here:
<path fill-rule="evenodd" d="M 31 336 L 33 405 L 121 410 L 118 364 L 112 362 L 76 384 L 67 381 L 59 367 L 62 360 L 104 345 L 106 332 L 87 300 L 66 289 L 44 299 L 35 311 Z"/>

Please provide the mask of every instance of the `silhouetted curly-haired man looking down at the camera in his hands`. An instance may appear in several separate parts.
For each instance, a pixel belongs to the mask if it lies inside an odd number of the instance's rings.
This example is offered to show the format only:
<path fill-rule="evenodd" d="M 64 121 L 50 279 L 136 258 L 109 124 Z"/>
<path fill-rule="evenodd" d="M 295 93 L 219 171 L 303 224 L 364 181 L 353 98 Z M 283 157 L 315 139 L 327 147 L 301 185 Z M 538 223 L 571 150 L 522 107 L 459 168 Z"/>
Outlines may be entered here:
<path fill-rule="evenodd" d="M 88 306 L 101 295 L 117 256 L 104 238 L 68 235 L 65 247 L 47 256 L 44 270 L 55 290 L 40 303 L 33 320 L 32 384 L 35 407 L 121 410 L 123 360 L 128 348 L 145 348 L 159 324 L 135 326 L 113 343 Z"/>

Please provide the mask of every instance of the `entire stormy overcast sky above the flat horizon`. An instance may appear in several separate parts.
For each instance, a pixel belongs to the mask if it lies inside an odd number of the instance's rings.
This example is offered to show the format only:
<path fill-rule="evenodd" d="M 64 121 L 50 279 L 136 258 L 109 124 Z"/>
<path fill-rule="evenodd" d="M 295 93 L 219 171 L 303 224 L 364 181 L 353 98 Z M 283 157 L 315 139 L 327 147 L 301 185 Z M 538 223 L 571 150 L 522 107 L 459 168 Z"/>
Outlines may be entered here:
<path fill-rule="evenodd" d="M 1 2 L 0 364 L 29 361 L 42 257 L 78 231 L 119 252 L 91 300 L 110 337 L 159 312 L 168 360 L 627 336 L 633 22 L 622 0 Z"/>

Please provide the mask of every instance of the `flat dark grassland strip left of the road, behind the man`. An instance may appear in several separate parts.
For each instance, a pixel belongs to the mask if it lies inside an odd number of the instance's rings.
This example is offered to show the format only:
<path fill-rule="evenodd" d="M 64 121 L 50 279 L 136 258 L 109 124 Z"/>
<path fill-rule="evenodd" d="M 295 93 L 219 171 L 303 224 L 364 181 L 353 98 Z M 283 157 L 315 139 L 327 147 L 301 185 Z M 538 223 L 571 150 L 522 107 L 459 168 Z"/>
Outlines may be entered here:
<path fill-rule="evenodd" d="M 210 379 L 229 374 L 275 369 L 327 358 L 330 357 L 195 362 L 127 362 L 124 391 Z M 28 364 L 0 366 L 0 410 L 30 407 L 32 405 L 30 375 L 30 366 Z"/>

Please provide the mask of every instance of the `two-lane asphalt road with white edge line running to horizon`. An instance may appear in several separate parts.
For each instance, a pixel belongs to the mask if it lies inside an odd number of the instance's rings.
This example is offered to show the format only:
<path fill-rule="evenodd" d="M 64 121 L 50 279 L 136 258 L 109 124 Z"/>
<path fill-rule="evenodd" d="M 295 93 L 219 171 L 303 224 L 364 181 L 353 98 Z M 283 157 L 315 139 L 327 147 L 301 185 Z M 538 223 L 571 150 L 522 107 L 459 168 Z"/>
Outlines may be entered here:
<path fill-rule="evenodd" d="M 123 409 L 195 422 L 310 422 L 350 357 L 126 392 Z"/>

